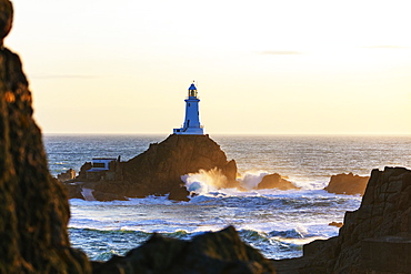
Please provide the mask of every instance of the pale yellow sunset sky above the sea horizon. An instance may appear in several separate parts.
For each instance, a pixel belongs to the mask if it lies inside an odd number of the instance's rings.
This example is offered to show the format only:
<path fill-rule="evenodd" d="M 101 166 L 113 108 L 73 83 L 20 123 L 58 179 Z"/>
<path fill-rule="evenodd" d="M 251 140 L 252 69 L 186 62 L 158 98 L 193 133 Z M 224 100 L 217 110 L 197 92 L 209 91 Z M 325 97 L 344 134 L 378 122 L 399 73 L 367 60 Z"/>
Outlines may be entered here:
<path fill-rule="evenodd" d="M 44 133 L 411 134 L 409 0 L 13 0 Z"/>

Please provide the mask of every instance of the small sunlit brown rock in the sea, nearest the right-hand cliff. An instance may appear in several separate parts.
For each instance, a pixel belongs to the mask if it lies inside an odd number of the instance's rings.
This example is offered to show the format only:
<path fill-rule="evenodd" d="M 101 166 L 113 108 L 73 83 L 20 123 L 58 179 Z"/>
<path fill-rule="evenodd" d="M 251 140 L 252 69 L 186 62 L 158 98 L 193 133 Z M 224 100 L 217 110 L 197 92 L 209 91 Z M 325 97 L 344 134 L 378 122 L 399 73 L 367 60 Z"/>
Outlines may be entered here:
<path fill-rule="evenodd" d="M 369 176 L 359 176 L 351 172 L 348 174 L 337 174 L 331 176 L 331 180 L 324 190 L 329 193 L 335 194 L 363 195 L 369 179 Z"/>

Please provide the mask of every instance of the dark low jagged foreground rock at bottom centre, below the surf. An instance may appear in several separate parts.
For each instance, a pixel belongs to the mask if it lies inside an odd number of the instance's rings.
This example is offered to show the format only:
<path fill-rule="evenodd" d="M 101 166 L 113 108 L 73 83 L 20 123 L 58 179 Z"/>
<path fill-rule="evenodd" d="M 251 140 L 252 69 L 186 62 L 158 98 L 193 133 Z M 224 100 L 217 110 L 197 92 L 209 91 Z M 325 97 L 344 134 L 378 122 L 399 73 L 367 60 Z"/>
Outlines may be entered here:
<path fill-rule="evenodd" d="M 94 263 L 93 273 L 275 273 L 255 248 L 244 244 L 234 227 L 194 236 L 191 241 L 154 234 L 126 256 Z"/>

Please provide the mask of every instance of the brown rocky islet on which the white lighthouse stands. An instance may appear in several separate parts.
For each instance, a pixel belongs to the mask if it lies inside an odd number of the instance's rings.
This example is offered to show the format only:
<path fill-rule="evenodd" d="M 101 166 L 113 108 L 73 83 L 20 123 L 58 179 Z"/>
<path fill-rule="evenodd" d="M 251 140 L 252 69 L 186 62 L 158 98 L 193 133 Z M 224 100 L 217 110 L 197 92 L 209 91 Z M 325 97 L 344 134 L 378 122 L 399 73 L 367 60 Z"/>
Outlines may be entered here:
<path fill-rule="evenodd" d="M 91 168 L 90 163 L 86 164 Z M 102 201 L 166 194 L 171 200 L 187 201 L 189 192 L 181 176 L 200 170 L 218 170 L 227 187 L 239 186 L 235 161 L 227 161 L 220 145 L 208 135 L 172 134 L 161 143 L 150 144 L 146 152 L 128 162 L 119 163 L 119 169 L 122 180 L 90 182 L 84 166 L 77 180 L 82 181 L 81 187 L 94 190 L 94 197 Z"/>

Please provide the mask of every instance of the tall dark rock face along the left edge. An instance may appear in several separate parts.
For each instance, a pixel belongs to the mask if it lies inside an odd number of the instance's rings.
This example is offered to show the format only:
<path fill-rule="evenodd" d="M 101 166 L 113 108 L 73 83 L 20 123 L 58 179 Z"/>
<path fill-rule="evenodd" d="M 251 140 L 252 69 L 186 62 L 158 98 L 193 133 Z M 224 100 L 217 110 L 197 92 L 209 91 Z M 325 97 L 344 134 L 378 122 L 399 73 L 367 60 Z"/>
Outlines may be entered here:
<path fill-rule="evenodd" d="M 11 27 L 9 9 L 10 2 L 0 0 L 1 35 Z M 67 195 L 49 174 L 20 59 L 4 48 L 0 50 L 0 273 L 90 271 L 87 256 L 70 247 Z"/>

